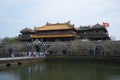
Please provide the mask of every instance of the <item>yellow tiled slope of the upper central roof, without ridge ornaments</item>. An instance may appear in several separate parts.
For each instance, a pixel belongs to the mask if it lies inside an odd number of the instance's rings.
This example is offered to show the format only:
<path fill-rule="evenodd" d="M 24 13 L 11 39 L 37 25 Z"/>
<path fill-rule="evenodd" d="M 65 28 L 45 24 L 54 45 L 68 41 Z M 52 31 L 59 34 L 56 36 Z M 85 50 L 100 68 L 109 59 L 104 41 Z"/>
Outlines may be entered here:
<path fill-rule="evenodd" d="M 50 25 L 45 25 L 43 27 L 37 27 L 35 30 L 62 30 L 62 29 L 73 29 L 71 25 L 68 24 L 50 24 Z"/>

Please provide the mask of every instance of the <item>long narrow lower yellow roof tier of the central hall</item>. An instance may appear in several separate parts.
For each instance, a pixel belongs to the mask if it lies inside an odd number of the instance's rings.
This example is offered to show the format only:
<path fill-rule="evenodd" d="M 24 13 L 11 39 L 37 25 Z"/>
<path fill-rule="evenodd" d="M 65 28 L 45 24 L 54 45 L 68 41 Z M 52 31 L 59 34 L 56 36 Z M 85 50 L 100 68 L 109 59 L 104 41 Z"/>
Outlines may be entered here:
<path fill-rule="evenodd" d="M 75 37 L 74 34 L 32 35 L 31 38 Z"/>

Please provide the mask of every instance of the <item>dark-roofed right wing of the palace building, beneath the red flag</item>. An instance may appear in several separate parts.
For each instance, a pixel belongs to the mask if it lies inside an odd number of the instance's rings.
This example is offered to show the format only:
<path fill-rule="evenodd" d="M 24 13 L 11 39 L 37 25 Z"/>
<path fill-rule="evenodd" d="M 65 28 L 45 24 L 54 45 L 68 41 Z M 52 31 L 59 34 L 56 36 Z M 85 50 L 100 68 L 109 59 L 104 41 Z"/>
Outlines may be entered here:
<path fill-rule="evenodd" d="M 80 39 L 89 40 L 109 40 L 108 31 L 106 27 L 100 24 L 93 26 L 80 26 L 77 30 L 77 35 Z"/>

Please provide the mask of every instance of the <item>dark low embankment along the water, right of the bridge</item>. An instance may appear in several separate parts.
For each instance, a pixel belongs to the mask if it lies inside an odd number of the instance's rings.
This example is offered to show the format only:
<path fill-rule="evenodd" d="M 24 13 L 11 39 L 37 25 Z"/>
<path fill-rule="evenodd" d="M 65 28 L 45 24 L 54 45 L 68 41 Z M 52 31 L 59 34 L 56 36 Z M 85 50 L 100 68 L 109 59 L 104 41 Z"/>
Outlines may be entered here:
<path fill-rule="evenodd" d="M 47 56 L 46 61 L 72 61 L 83 63 L 120 64 L 118 56 Z"/>

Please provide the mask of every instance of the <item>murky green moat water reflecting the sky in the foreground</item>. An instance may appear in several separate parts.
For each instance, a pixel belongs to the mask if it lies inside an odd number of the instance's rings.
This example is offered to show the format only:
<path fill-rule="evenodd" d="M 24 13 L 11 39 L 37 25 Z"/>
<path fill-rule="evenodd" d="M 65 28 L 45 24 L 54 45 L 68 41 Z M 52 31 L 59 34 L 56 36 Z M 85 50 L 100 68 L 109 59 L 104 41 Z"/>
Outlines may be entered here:
<path fill-rule="evenodd" d="M 44 62 L 0 70 L 0 80 L 120 80 L 120 65 Z"/>

